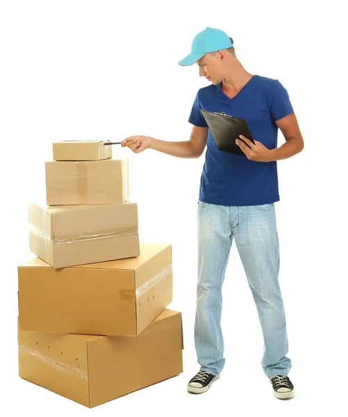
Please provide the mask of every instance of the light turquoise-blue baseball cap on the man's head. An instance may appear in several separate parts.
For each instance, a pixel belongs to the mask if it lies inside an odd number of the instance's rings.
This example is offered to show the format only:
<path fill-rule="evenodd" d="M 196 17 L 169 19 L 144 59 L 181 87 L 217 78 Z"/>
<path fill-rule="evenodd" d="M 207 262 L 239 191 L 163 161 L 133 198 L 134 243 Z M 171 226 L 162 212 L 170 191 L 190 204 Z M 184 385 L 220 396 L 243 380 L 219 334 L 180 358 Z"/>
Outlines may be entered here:
<path fill-rule="evenodd" d="M 208 52 L 219 51 L 233 47 L 229 35 L 216 28 L 205 28 L 194 37 L 191 45 L 191 52 L 185 56 L 179 65 L 192 65 L 201 59 Z"/>

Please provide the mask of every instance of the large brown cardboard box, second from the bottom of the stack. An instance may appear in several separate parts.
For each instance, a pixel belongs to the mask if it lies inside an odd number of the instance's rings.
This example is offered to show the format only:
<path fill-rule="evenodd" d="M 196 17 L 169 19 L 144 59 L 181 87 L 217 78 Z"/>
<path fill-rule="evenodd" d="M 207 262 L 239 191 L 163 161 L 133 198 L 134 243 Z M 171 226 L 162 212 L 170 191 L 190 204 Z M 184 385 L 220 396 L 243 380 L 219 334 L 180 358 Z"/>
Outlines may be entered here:
<path fill-rule="evenodd" d="M 18 268 L 19 321 L 29 332 L 138 336 L 172 302 L 172 287 L 171 245 L 60 270 L 36 258 Z"/>

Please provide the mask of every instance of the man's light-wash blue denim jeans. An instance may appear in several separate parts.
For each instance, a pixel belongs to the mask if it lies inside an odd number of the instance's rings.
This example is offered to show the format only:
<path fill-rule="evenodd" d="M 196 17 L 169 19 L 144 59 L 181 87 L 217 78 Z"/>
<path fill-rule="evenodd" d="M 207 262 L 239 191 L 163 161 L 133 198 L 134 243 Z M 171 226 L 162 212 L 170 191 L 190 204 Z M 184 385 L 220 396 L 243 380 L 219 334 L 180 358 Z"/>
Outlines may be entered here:
<path fill-rule="evenodd" d="M 222 283 L 233 237 L 263 332 L 261 366 L 269 378 L 288 375 L 285 311 L 279 287 L 279 240 L 274 203 L 218 206 L 198 202 L 198 283 L 194 344 L 201 370 L 224 368 Z"/>

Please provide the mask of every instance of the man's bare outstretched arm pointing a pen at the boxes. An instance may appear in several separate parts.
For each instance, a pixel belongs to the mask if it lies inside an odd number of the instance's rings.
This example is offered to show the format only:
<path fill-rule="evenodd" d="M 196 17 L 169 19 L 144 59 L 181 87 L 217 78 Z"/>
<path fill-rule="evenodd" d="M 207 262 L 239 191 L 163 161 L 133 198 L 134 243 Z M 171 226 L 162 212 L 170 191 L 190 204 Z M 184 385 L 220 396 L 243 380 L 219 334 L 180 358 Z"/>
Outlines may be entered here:
<path fill-rule="evenodd" d="M 151 136 L 131 136 L 122 141 L 122 147 L 129 146 L 135 154 L 149 148 L 178 158 L 199 158 L 204 152 L 207 138 L 208 127 L 192 125 L 190 140 L 168 142 Z"/>

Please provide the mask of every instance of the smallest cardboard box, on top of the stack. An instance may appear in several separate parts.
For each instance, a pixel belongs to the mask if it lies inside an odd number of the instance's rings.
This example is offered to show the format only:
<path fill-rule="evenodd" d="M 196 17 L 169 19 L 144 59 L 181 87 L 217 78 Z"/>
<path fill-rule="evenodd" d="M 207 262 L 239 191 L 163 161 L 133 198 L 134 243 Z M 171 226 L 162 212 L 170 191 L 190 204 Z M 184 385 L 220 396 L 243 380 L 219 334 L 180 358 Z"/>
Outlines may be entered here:
<path fill-rule="evenodd" d="M 53 161 L 100 161 L 113 156 L 112 145 L 103 140 L 53 142 Z"/>

